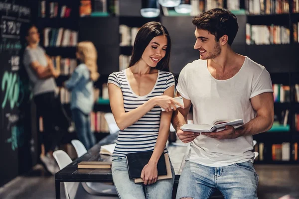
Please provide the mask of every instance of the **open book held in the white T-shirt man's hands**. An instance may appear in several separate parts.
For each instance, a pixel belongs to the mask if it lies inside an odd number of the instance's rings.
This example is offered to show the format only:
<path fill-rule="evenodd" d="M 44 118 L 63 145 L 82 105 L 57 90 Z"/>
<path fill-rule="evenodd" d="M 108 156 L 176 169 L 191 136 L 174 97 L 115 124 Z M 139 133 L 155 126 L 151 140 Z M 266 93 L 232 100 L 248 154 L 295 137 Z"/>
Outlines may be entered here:
<path fill-rule="evenodd" d="M 184 124 L 181 129 L 183 131 L 191 131 L 196 133 L 201 132 L 213 132 L 221 131 L 225 129 L 226 125 L 230 126 L 240 126 L 243 125 L 243 119 L 216 119 L 212 122 L 212 125 L 209 124 Z"/>

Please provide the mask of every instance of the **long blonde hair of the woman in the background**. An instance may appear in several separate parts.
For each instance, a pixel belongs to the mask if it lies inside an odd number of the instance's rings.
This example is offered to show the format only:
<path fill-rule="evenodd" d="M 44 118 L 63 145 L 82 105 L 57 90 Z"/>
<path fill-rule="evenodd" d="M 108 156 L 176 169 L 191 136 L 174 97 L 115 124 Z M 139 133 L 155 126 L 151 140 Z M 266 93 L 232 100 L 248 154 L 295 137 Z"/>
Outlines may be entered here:
<path fill-rule="evenodd" d="M 98 54 L 94 44 L 90 41 L 79 42 L 77 45 L 77 52 L 82 55 L 81 61 L 86 64 L 90 71 L 90 79 L 92 81 L 97 81 L 100 74 L 98 73 L 97 66 Z"/>

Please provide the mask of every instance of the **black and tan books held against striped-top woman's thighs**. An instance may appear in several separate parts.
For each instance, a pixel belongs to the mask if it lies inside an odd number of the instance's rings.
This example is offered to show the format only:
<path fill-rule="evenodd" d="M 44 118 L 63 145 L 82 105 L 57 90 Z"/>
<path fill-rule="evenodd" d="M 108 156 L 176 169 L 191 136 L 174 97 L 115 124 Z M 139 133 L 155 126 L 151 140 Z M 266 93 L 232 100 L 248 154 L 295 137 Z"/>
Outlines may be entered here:
<path fill-rule="evenodd" d="M 152 151 L 129 153 L 126 155 L 127 166 L 129 171 L 129 178 L 134 179 L 134 183 L 143 183 L 141 172 L 143 168 L 149 163 Z M 171 179 L 171 167 L 168 153 L 162 154 L 157 163 L 158 179 Z"/>

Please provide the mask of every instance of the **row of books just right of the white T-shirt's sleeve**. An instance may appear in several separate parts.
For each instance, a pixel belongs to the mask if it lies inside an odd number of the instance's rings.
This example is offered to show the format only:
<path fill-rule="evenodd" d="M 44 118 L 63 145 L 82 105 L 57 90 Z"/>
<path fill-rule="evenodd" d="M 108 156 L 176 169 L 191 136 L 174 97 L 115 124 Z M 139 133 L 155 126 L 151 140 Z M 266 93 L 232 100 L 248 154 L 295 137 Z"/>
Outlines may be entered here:
<path fill-rule="evenodd" d="M 274 102 L 283 103 L 290 102 L 291 100 L 299 102 L 299 84 L 295 84 L 291 87 L 282 84 L 273 84 L 273 97 Z"/>

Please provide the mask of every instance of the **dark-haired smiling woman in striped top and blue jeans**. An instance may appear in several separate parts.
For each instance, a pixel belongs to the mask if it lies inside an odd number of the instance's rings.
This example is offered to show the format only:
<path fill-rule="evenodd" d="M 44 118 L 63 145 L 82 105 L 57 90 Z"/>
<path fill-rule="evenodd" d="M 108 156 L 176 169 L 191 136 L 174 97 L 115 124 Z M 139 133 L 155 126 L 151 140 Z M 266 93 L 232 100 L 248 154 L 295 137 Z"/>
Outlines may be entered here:
<path fill-rule="evenodd" d="M 137 33 L 129 68 L 108 79 L 112 113 L 120 128 L 113 153 L 113 182 L 121 199 L 171 199 L 172 179 L 157 181 L 157 161 L 165 147 L 171 107 L 175 110 L 174 77 L 169 73 L 170 37 L 159 22 L 143 25 Z M 180 104 L 178 104 L 180 105 Z M 161 107 L 166 111 L 161 111 Z M 182 107 L 182 106 L 181 106 Z M 129 179 L 127 153 L 153 151 L 141 178 Z"/>

